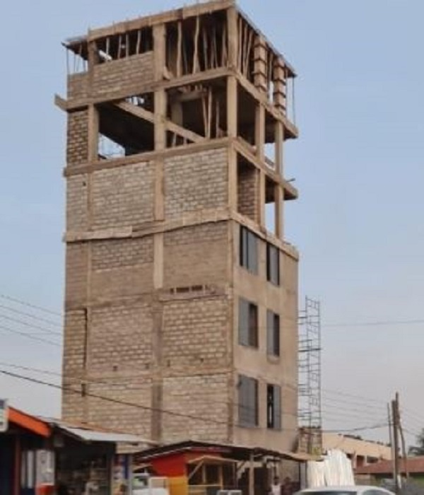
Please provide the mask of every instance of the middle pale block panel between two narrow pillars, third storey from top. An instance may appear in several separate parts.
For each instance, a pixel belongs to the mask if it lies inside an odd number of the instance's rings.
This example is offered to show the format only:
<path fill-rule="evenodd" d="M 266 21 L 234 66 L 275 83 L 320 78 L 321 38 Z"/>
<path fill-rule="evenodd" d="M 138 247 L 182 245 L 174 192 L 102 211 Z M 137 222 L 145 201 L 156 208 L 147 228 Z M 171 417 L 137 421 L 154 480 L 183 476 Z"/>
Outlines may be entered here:
<path fill-rule="evenodd" d="M 93 173 L 93 228 L 152 221 L 153 174 L 146 162 Z"/>

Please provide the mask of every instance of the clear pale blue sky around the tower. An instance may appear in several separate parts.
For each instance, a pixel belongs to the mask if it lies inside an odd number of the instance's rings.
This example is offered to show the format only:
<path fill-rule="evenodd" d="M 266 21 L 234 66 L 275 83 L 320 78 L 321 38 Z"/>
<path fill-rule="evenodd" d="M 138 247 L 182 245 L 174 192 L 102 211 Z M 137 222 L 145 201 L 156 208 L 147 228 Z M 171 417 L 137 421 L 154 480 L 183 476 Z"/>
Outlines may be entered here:
<path fill-rule="evenodd" d="M 322 301 L 326 325 L 424 319 L 423 1 L 240 5 L 299 74 L 301 136 L 286 146 L 286 170 L 300 200 L 287 207 L 286 231 L 301 252 L 302 294 Z M 54 93 L 64 94 L 65 87 L 61 41 L 175 6 L 177 0 L 16 0 L 4 6 L 0 293 L 61 309 L 66 134 L 64 115 L 53 105 Z M 6 326 L 1 317 L 0 325 Z M 395 390 L 409 410 L 408 429 L 417 431 L 421 417 L 424 425 L 423 329 L 324 326 L 327 428 L 383 420 L 384 402 Z M 1 329 L 0 339 L 0 362 L 59 370 L 57 348 Z M 353 398 L 343 403 L 334 390 L 381 403 L 358 399 L 361 419 L 348 403 Z M 0 378 L 1 395 L 34 412 L 59 412 L 57 392 L 42 387 Z M 387 438 L 384 430 L 371 434 Z"/>

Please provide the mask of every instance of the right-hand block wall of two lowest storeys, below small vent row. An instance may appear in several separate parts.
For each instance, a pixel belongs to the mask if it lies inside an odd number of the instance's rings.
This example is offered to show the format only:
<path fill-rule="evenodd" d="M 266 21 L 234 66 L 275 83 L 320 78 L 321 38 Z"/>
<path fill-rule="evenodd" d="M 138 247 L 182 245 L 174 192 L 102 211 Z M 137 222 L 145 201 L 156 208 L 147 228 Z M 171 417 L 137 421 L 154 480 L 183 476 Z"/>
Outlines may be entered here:
<path fill-rule="evenodd" d="M 163 438 L 225 441 L 228 421 L 228 299 L 197 298 L 163 309 Z M 209 421 L 207 421 L 209 420 Z"/>

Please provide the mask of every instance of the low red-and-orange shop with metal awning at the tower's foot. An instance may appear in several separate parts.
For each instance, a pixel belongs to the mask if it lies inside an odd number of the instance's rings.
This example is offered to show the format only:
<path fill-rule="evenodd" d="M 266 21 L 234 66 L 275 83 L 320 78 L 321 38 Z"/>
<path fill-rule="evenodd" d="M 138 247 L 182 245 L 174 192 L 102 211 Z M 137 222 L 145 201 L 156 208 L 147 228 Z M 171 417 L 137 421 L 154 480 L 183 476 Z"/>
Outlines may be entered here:
<path fill-rule="evenodd" d="M 264 448 L 182 441 L 135 454 L 134 472 L 167 477 L 170 495 L 215 495 L 219 490 L 263 495 L 276 475 L 285 480 L 284 494 L 291 494 L 305 479 L 306 461 L 313 459 L 317 458 Z"/>

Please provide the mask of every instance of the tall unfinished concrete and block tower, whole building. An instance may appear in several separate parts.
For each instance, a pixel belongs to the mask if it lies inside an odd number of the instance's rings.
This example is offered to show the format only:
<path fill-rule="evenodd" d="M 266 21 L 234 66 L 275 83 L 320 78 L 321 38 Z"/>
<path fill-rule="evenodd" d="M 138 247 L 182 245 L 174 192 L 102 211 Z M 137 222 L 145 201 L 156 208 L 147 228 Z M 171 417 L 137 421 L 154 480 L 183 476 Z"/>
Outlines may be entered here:
<path fill-rule="evenodd" d="M 292 67 L 232 0 L 90 30 L 66 49 L 64 418 L 289 450 Z"/>

